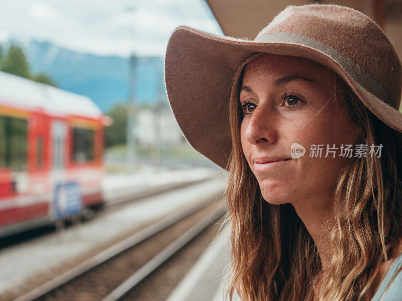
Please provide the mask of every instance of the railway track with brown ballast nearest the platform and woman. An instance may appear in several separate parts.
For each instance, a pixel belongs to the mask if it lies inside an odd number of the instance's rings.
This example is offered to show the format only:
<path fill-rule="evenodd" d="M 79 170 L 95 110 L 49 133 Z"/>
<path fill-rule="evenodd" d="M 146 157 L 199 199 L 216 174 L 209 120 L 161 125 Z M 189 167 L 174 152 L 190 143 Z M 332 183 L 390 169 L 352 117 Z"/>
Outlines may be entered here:
<path fill-rule="evenodd" d="M 207 202 L 208 203 L 208 202 Z M 119 300 L 225 212 L 225 201 L 198 203 L 118 242 L 18 297 L 29 300 Z"/>

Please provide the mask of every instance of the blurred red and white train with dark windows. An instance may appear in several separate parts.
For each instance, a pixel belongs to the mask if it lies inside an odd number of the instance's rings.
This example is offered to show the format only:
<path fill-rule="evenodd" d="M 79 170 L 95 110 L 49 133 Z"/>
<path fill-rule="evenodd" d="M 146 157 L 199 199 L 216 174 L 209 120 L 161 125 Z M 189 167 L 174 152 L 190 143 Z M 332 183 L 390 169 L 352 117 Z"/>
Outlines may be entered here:
<path fill-rule="evenodd" d="M 108 121 L 88 97 L 0 72 L 0 237 L 102 205 Z"/>

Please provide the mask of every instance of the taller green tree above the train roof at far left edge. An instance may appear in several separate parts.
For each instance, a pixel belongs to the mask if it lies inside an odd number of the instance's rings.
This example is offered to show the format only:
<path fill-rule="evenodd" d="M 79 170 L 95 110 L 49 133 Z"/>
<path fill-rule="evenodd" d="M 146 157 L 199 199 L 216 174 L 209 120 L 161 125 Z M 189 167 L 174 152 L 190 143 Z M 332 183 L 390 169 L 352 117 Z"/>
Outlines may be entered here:
<path fill-rule="evenodd" d="M 10 47 L 7 57 L 3 60 L 2 71 L 31 78 L 28 61 L 21 47 L 16 45 Z"/>

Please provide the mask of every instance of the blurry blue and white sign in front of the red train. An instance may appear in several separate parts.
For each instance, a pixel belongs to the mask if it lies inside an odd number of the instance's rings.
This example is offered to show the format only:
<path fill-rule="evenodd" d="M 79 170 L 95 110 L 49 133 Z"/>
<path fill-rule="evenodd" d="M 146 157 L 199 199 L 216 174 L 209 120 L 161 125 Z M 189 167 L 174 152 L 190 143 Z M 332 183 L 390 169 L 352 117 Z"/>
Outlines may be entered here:
<path fill-rule="evenodd" d="M 64 218 L 82 212 L 81 193 L 77 182 L 56 185 L 54 208 L 57 218 Z"/>

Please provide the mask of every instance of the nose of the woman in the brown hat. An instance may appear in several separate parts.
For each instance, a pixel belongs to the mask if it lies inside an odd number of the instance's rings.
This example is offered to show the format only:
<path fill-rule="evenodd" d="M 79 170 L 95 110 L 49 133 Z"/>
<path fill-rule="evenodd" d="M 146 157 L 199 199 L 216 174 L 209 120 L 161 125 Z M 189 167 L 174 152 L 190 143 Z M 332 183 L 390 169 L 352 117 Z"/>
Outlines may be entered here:
<path fill-rule="evenodd" d="M 277 129 L 272 112 L 257 106 L 251 113 L 244 135 L 252 144 L 273 143 L 277 137 Z"/>

